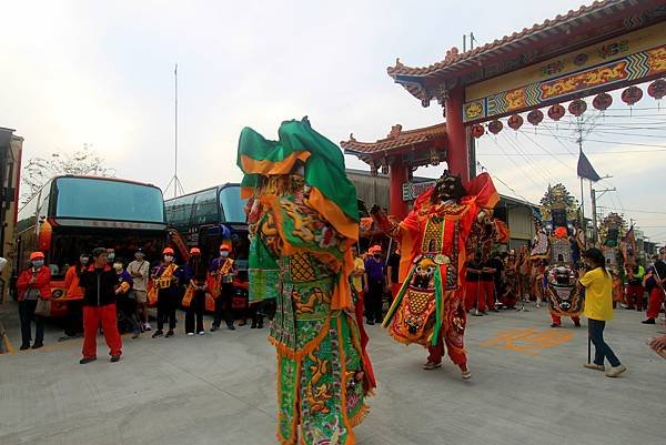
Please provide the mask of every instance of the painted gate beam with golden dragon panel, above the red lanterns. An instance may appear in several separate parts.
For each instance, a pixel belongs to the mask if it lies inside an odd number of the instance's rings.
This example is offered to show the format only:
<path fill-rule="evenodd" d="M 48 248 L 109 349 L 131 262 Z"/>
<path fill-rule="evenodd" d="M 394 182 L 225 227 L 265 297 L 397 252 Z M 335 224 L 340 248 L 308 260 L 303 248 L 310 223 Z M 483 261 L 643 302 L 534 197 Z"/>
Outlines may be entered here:
<path fill-rule="evenodd" d="M 470 85 L 465 123 L 614 90 L 666 73 L 663 23 Z"/>

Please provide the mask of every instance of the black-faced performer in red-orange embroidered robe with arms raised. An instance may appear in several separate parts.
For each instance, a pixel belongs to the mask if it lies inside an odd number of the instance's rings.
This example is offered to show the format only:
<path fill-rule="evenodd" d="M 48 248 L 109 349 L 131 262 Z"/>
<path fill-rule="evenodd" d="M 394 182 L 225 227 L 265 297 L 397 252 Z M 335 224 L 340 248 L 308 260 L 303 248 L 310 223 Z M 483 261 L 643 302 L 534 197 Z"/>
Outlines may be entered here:
<path fill-rule="evenodd" d="M 425 370 L 442 366 L 445 343 L 462 377 L 472 376 L 463 345 L 466 239 L 498 199 L 487 173 L 465 188 L 460 176 L 445 171 L 400 224 L 379 206 L 372 210 L 380 229 L 400 243 L 402 257 L 411 262 L 383 325 L 397 342 L 428 348 Z"/>

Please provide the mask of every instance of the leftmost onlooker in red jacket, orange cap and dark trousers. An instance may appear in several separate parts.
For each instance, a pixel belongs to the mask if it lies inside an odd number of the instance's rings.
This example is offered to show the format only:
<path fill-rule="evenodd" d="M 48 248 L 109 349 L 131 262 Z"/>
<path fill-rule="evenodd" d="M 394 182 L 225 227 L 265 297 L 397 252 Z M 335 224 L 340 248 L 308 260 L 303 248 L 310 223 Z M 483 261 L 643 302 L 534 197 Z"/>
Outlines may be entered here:
<path fill-rule="evenodd" d="M 51 299 L 51 271 L 44 265 L 44 254 L 32 252 L 30 263 L 31 266 L 24 270 L 17 281 L 19 318 L 21 320 L 21 351 L 30 347 L 30 341 L 32 340 L 30 324 L 33 320 L 36 328 L 32 348 L 38 350 L 44 345 L 44 318 L 34 315 L 34 310 L 39 299 Z"/>

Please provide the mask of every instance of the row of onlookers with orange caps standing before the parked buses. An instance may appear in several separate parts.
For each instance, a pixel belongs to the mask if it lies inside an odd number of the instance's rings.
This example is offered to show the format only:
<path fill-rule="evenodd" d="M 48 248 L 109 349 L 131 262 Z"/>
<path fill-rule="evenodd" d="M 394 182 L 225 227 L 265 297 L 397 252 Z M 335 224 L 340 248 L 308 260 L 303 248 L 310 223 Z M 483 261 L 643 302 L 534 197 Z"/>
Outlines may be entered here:
<path fill-rule="evenodd" d="M 152 337 L 175 335 L 176 310 L 185 311 L 186 335 L 203 335 L 203 314 L 206 300 L 211 296 L 213 321 L 211 332 L 222 324 L 231 331 L 235 323 L 245 325 L 252 318 L 252 328 L 262 328 L 264 314 L 258 305 L 250 306 L 241 295 L 241 307 L 234 309 L 238 300 L 238 264 L 231 255 L 231 246 L 221 244 L 219 256 L 211 262 L 202 259 L 198 247 L 189 252 L 190 260 L 183 265 L 174 263 L 174 251 L 165 247 L 161 261 L 152 265 L 141 249 L 129 264 L 115 257 L 112 249 L 97 247 L 91 253 L 82 252 L 64 276 L 64 296 L 68 311 L 64 318 L 64 335 L 59 341 L 83 337 L 81 364 L 97 358 L 97 334 L 103 332 L 110 350 L 111 361 L 118 362 L 122 354 L 121 332 L 131 333 L 132 338 L 153 331 L 149 321 L 149 306 L 157 307 L 157 328 Z M 246 286 L 246 283 L 245 283 Z M 44 317 L 51 300 L 51 270 L 44 265 L 42 252 L 32 252 L 30 267 L 22 271 L 17 282 L 19 317 L 21 324 L 20 350 L 43 346 Z M 246 293 L 245 293 L 246 295 Z M 32 337 L 31 324 L 36 332 Z M 32 344 L 31 344 L 32 343 Z"/>

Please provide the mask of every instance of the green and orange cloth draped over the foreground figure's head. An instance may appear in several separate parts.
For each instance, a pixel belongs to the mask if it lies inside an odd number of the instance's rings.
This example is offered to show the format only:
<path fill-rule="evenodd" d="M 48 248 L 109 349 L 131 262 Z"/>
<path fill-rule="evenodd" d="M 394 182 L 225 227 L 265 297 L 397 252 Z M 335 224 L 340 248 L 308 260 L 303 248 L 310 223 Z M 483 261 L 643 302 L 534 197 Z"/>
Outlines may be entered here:
<path fill-rule="evenodd" d="M 265 178 L 296 171 L 303 174 L 310 188 L 309 205 L 345 239 L 343 249 L 334 252 L 341 270 L 331 305 L 333 309 L 352 307 L 349 276 L 354 269 L 354 259 L 349 247 L 359 240 L 359 206 L 356 189 L 345 174 L 342 152 L 333 142 L 312 130 L 306 118 L 282 122 L 278 134 L 278 141 L 269 141 L 250 128 L 242 130 L 238 165 L 245 176 L 241 183 L 241 195 L 244 199 L 252 198 Z M 261 243 L 255 243 L 254 247 L 254 251 L 251 249 L 249 273 L 256 283 L 269 283 L 261 285 L 268 295 L 271 293 L 270 283 L 279 271 L 274 260 L 265 249 L 262 250 Z M 250 284 L 253 299 L 252 280 Z"/>

